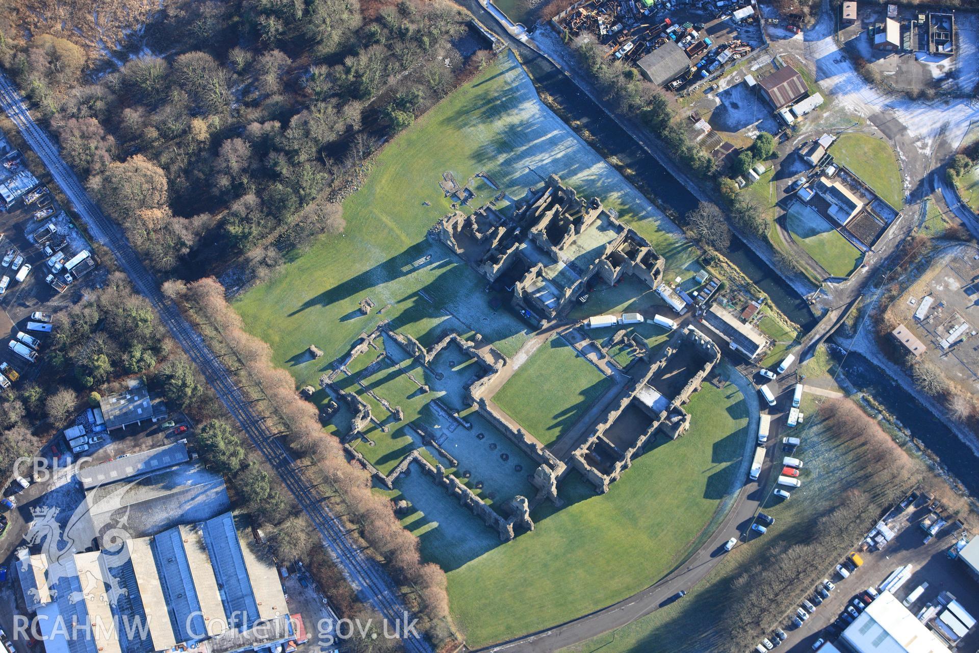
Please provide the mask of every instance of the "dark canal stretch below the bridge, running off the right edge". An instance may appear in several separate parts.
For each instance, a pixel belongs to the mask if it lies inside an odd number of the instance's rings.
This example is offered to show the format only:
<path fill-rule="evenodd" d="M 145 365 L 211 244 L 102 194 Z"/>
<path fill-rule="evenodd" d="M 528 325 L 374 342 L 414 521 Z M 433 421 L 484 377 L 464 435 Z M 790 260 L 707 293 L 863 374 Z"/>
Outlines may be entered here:
<path fill-rule="evenodd" d="M 873 396 L 938 456 L 969 493 L 979 496 L 979 461 L 942 420 L 861 354 L 851 352 L 840 367 L 858 390 Z"/>

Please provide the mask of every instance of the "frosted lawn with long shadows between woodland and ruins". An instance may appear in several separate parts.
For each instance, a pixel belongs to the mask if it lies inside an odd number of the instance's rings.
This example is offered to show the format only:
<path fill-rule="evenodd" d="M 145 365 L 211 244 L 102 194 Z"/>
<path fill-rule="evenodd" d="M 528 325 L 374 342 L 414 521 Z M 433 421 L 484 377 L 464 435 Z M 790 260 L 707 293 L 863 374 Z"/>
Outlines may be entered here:
<path fill-rule="evenodd" d="M 507 355 L 523 344 L 527 325 L 519 316 L 507 307 L 493 311 L 486 280 L 425 237 L 451 210 L 438 186 L 445 171 L 461 183 L 486 171 L 512 197 L 539 184 L 536 173 L 556 173 L 580 195 L 618 210 L 671 268 L 692 259 L 676 225 L 546 109 L 524 71 L 503 55 L 384 148 L 344 202 L 342 236 L 317 239 L 234 303 L 299 384 L 315 386 L 381 319 L 426 347 L 448 328 L 478 331 Z M 495 194 L 482 181 L 475 188 L 484 199 Z M 365 297 L 377 308 L 363 316 L 357 303 Z M 326 355 L 307 360 L 310 344 Z"/>

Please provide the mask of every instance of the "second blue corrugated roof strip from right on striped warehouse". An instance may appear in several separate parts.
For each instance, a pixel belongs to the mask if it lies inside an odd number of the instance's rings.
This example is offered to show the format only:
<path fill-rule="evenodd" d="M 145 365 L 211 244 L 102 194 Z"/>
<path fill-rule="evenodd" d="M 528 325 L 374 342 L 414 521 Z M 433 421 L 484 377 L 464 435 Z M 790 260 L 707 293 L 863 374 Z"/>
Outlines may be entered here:
<path fill-rule="evenodd" d="M 194 588 L 194 579 L 187 563 L 180 530 L 172 528 L 153 538 L 151 544 L 157 562 L 157 573 L 163 585 L 170 624 L 178 641 L 199 639 L 205 629 L 201 603 Z M 197 636 L 195 636 L 197 635 Z"/>

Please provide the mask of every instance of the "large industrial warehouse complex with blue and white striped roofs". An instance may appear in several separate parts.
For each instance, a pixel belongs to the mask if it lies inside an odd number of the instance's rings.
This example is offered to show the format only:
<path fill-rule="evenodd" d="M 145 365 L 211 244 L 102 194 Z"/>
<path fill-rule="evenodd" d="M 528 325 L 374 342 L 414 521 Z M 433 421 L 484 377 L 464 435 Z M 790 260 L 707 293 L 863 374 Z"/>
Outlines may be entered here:
<path fill-rule="evenodd" d="M 14 563 L 46 653 L 289 651 L 303 639 L 265 545 L 184 443 L 85 468 L 78 480 L 87 491 L 68 525 L 57 510 L 32 510 L 30 548 Z M 88 542 L 101 549 L 81 550 Z"/>

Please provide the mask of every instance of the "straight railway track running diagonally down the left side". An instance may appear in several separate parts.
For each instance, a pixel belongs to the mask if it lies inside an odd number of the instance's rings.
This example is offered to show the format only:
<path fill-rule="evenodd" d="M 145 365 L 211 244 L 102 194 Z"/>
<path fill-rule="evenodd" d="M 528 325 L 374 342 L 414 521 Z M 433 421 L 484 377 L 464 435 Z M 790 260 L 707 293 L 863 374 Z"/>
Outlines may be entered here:
<path fill-rule="evenodd" d="M 85 220 L 92 236 L 116 256 L 119 267 L 129 275 L 136 291 L 151 303 L 173 339 L 200 368 L 228 412 L 296 497 L 350 584 L 388 622 L 388 631 L 400 625 L 398 632 L 405 650 L 431 653 L 427 641 L 413 630 L 405 629 L 412 618 L 398 597 L 395 583 L 380 565 L 351 541 L 344 525 L 324 505 L 323 497 L 313 490 L 315 484 L 310 483 L 264 419 L 252 409 L 249 399 L 237 387 L 228 368 L 204 343 L 201 334 L 163 295 L 159 280 L 136 256 L 118 225 L 92 201 L 69 165 L 62 160 L 58 148 L 30 117 L 17 88 L 3 73 L 0 73 L 0 105 L 21 130 L 27 144 L 51 171 L 54 180 Z"/>

